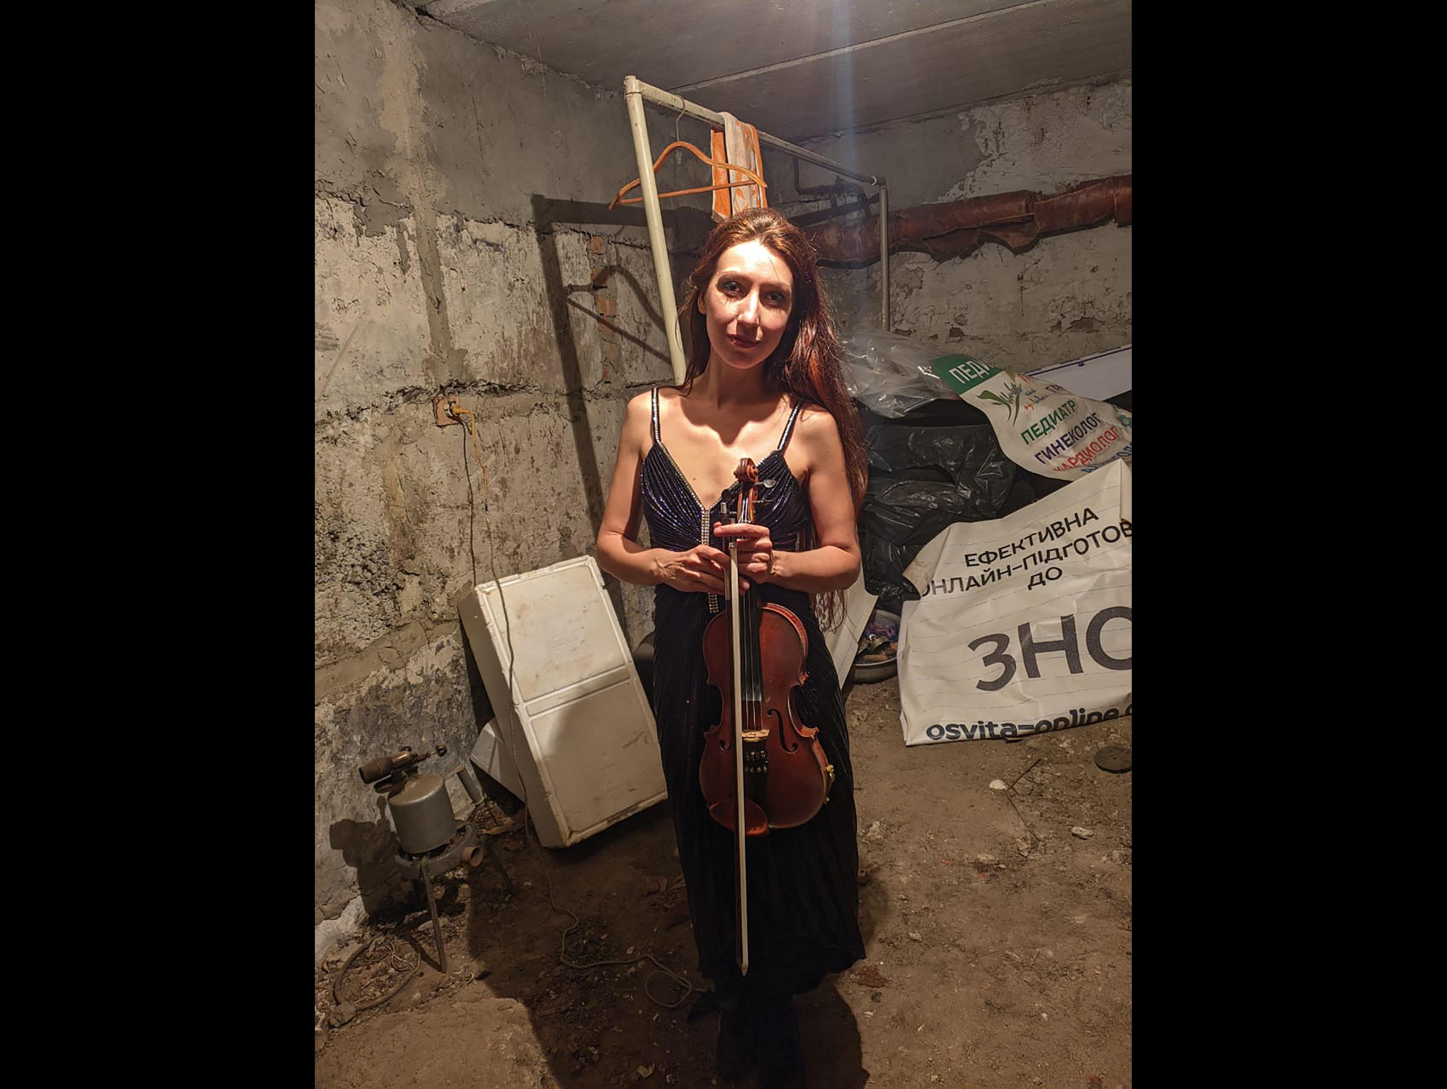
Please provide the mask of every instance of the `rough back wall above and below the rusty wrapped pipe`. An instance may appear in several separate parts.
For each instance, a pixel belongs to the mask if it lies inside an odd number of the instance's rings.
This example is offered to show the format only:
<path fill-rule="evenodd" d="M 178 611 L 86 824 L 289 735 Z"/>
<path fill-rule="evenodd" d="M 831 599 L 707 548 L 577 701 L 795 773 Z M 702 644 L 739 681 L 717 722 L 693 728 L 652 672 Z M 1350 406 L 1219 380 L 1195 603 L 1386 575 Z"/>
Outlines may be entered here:
<path fill-rule="evenodd" d="M 806 146 L 884 172 L 896 211 L 1013 189 L 1046 195 L 1130 172 L 1130 81 L 991 103 Z M 800 175 L 803 185 L 829 181 L 812 166 Z M 797 202 L 792 176 L 780 195 L 790 214 L 825 207 Z M 1019 255 L 996 243 L 945 262 L 891 255 L 893 331 L 1013 370 L 1129 344 L 1132 230 L 1110 223 L 1046 236 Z M 878 328 L 878 262 L 828 269 L 825 282 L 845 330 Z"/>

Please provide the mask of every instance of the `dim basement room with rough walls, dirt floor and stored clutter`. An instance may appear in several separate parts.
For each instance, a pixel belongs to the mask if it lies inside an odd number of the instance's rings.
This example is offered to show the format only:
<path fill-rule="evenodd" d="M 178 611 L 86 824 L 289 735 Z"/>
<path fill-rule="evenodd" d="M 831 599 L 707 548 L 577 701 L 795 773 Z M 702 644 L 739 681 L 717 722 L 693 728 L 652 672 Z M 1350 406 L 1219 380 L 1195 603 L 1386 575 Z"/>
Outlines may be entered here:
<path fill-rule="evenodd" d="M 1132 1075 L 1130 0 L 315 0 L 317 1086 Z"/>

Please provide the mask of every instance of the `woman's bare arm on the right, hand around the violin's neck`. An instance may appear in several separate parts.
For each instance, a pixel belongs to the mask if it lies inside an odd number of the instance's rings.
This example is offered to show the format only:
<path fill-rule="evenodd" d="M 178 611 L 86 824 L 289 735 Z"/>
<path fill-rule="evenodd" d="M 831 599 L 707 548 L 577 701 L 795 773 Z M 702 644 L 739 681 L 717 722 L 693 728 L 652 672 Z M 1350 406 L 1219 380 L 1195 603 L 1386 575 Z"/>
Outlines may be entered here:
<path fill-rule="evenodd" d="M 839 425 L 822 409 L 805 409 L 794 427 L 793 441 L 805 454 L 805 489 L 816 547 L 803 552 L 776 552 L 763 526 L 715 526 L 715 531 L 721 537 L 738 538 L 739 570 L 748 580 L 806 593 L 846 590 L 860 577 L 860 534 L 844 470 Z"/>

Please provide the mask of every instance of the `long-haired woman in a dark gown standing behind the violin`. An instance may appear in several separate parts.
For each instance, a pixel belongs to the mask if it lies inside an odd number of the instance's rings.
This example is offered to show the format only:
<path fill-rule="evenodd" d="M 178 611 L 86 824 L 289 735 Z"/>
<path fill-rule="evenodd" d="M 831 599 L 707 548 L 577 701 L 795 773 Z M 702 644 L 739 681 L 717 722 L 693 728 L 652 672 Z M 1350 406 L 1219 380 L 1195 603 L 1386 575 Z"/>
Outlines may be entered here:
<path fill-rule="evenodd" d="M 692 341 L 684 382 L 628 403 L 598 563 L 657 587 L 653 709 L 699 970 L 724 1009 L 719 1075 L 735 1080 L 757 1063 L 763 1085 L 794 1085 L 793 995 L 864 956 L 849 742 L 812 600 L 826 619 L 838 615 L 860 573 L 864 443 L 813 247 L 783 215 L 755 208 L 715 227 L 680 317 Z M 751 525 L 729 513 L 742 457 L 760 476 Z M 640 518 L 651 548 L 635 539 Z M 835 775 L 812 820 L 748 840 L 747 978 L 734 947 L 735 839 L 709 817 L 699 787 L 703 733 L 722 703 L 708 683 L 703 631 L 725 606 L 729 541 L 741 589 L 757 586 L 805 625 L 807 681 L 796 706 Z"/>

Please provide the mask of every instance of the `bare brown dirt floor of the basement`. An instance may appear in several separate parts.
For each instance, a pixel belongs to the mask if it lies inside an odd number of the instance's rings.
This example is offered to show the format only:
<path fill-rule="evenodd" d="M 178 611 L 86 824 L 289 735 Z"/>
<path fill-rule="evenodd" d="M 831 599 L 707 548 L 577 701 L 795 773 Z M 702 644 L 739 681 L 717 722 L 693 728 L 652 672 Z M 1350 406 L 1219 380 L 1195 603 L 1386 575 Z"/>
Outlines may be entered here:
<path fill-rule="evenodd" d="M 906 748 L 896 680 L 845 709 L 867 959 L 797 999 L 809 1085 L 1129 1088 L 1132 775 L 1095 756 L 1132 720 Z M 425 907 L 318 969 L 315 1085 L 719 1085 L 667 803 L 488 843 L 517 892 L 489 862 L 437 882 L 446 975 Z"/>

